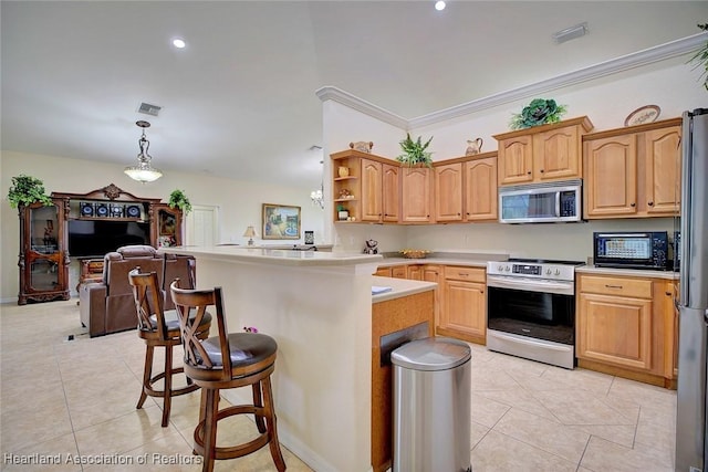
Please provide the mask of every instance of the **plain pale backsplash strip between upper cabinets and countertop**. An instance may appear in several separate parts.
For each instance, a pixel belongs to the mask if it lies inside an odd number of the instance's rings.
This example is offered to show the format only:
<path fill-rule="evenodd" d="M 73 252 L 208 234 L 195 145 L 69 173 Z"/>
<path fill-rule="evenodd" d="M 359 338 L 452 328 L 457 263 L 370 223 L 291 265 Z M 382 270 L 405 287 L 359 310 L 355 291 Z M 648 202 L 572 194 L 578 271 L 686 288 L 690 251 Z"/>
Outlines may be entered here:
<path fill-rule="evenodd" d="M 378 241 L 379 252 L 427 249 L 445 252 L 508 253 L 514 258 L 587 261 L 594 231 L 668 231 L 673 218 L 593 220 L 581 223 L 426 225 L 336 224 L 335 245 L 363 251 L 364 241 Z"/>

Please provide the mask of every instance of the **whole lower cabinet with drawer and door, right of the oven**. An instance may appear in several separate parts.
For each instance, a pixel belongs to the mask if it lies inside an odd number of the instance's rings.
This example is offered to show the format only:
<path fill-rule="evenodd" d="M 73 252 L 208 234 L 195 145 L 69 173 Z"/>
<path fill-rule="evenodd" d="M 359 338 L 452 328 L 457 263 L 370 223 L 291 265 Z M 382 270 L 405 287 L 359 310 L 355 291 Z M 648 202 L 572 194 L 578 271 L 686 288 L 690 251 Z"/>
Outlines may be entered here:
<path fill-rule="evenodd" d="M 674 313 L 667 310 L 673 295 L 667 281 L 579 274 L 577 286 L 579 366 L 668 386 Z"/>

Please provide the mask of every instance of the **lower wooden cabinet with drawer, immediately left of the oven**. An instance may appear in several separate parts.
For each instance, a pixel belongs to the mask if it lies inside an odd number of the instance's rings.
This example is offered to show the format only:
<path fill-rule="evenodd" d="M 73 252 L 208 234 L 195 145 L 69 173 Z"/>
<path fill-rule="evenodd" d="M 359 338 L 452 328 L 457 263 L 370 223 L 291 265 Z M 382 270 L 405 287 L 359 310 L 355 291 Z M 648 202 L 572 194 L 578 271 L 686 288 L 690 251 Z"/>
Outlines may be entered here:
<path fill-rule="evenodd" d="M 486 344 L 486 270 L 446 265 L 442 273 L 437 333 L 470 343 Z"/>

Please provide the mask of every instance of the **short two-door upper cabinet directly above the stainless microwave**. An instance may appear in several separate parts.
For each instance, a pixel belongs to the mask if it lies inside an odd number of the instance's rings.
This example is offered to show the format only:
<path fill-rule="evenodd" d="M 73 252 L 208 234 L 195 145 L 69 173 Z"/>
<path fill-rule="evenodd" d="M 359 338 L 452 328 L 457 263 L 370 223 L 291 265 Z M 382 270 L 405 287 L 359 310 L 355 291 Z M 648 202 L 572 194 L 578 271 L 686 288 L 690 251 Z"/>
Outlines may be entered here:
<path fill-rule="evenodd" d="M 593 128 L 586 116 L 494 135 L 499 141 L 500 186 L 577 179 L 582 136 Z"/>

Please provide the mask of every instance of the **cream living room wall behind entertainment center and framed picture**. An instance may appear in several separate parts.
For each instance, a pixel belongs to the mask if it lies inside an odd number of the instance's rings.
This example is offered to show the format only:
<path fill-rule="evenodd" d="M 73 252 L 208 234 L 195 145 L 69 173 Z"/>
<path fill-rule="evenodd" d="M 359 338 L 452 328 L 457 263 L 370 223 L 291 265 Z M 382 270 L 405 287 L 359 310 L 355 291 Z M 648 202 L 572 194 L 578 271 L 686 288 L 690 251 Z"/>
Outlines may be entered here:
<path fill-rule="evenodd" d="M 39 156 L 13 151 L 2 151 L 0 161 L 0 298 L 2 302 L 17 301 L 19 291 L 18 253 L 19 219 L 17 209 L 10 208 L 7 196 L 12 177 L 27 174 L 41 179 L 48 193 L 52 191 L 86 193 L 115 183 L 121 189 L 138 198 L 159 198 L 167 201 L 169 193 L 183 189 L 192 204 L 219 208 L 219 231 L 217 242 L 244 244 L 246 227 L 252 224 L 261 233 L 261 203 L 294 204 L 302 208 L 302 237 L 305 230 L 315 232 L 315 243 L 324 240 L 324 213 L 310 200 L 312 189 L 284 188 L 262 182 L 247 182 L 223 179 L 209 175 L 194 175 L 166 170 L 155 182 L 142 185 L 123 174 L 123 166 L 96 161 L 71 159 L 56 156 Z M 302 243 L 303 240 L 260 240 L 262 244 Z M 76 262 L 70 268 L 70 287 L 75 290 L 79 270 Z"/>

